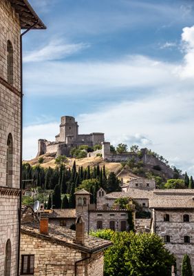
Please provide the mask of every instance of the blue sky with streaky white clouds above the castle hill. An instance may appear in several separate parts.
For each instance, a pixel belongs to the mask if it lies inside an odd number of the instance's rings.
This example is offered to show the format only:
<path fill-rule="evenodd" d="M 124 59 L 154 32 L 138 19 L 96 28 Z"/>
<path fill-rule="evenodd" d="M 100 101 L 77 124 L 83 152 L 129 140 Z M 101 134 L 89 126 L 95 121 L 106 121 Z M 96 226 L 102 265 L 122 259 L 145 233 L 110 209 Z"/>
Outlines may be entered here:
<path fill-rule="evenodd" d="M 60 118 L 194 175 L 193 0 L 30 0 L 23 37 L 23 159 Z"/>

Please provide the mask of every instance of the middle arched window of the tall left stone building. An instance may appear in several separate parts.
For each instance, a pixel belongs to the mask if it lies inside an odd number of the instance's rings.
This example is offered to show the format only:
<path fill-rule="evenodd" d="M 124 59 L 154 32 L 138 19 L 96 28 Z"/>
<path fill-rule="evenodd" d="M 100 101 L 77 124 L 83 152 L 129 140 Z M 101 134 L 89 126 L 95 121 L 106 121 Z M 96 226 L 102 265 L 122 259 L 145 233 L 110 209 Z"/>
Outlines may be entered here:
<path fill-rule="evenodd" d="M 6 159 L 6 185 L 12 187 L 13 174 L 13 139 L 11 133 L 7 141 L 7 159 Z"/>

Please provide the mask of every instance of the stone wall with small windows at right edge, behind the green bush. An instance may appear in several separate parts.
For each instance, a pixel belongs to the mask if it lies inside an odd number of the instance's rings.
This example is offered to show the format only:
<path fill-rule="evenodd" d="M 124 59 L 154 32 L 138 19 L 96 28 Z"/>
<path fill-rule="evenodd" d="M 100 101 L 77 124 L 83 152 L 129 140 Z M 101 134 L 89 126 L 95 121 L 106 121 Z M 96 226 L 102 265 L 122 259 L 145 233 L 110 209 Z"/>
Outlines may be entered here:
<path fill-rule="evenodd" d="M 169 214 L 169 221 L 164 221 L 164 215 Z M 189 221 L 183 221 L 183 215 L 189 215 Z M 194 214 L 192 210 L 155 210 L 153 230 L 155 233 L 163 233 L 170 236 L 170 242 L 166 243 L 171 253 L 177 258 L 177 275 L 180 275 L 182 258 L 188 254 L 191 258 L 194 273 Z M 184 243 L 184 236 L 190 237 L 190 243 Z"/>

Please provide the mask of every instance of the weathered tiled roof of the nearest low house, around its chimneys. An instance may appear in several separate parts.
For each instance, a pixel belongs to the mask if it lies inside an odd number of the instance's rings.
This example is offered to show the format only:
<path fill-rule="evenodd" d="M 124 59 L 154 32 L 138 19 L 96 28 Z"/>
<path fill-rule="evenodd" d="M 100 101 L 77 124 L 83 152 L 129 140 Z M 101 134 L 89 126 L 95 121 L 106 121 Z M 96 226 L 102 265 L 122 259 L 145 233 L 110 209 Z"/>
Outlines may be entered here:
<path fill-rule="evenodd" d="M 65 227 L 49 225 L 49 234 L 44 235 L 39 233 L 38 224 L 25 224 L 21 226 L 21 233 L 26 235 L 31 235 L 39 239 L 46 239 L 47 242 L 54 242 L 59 244 L 64 244 L 64 246 L 69 246 L 76 248 L 85 253 L 94 253 L 98 250 L 104 250 L 105 248 L 112 245 L 110 241 L 105 239 L 100 239 L 97 237 L 91 237 L 85 234 L 84 245 L 76 244 L 76 231 L 70 230 Z"/>

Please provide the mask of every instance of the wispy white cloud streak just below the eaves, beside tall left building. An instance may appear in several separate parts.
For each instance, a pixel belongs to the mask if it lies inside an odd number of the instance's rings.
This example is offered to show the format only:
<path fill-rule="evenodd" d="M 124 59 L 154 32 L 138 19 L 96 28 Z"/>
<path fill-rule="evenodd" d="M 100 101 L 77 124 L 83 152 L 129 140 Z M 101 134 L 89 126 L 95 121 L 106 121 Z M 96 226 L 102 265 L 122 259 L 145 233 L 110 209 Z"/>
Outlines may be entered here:
<path fill-rule="evenodd" d="M 56 59 L 63 59 L 69 55 L 73 55 L 80 50 L 88 48 L 89 44 L 77 43 L 67 44 L 58 39 L 51 41 L 47 46 L 34 50 L 32 52 L 25 53 L 23 57 L 24 62 L 41 62 L 52 61 Z"/>

